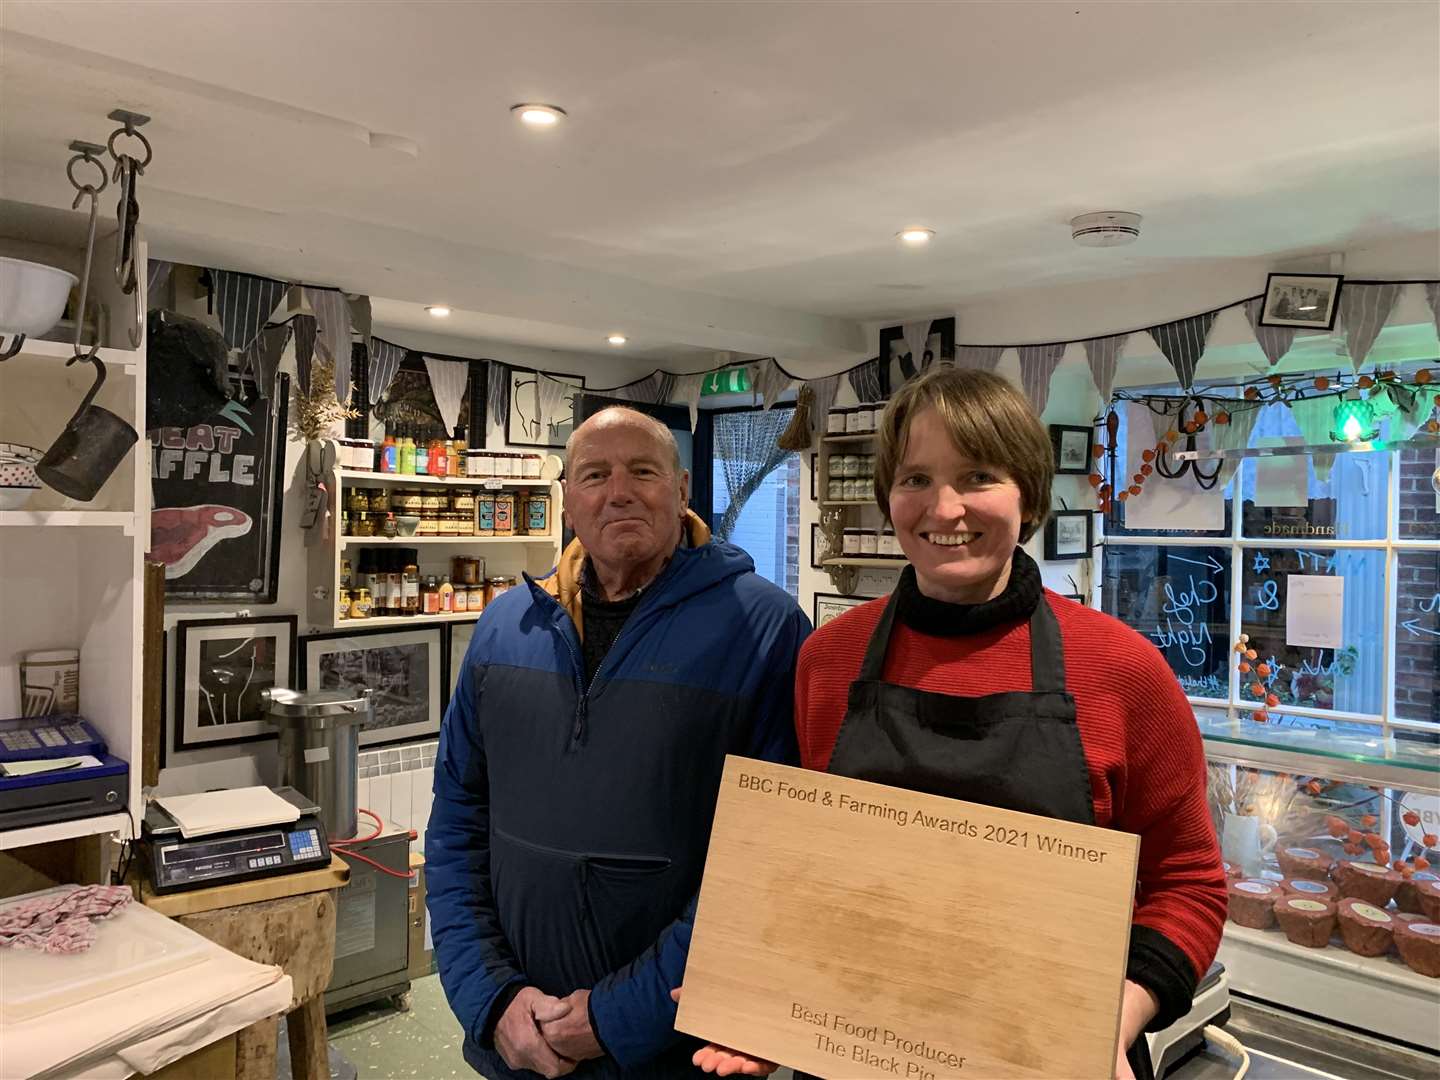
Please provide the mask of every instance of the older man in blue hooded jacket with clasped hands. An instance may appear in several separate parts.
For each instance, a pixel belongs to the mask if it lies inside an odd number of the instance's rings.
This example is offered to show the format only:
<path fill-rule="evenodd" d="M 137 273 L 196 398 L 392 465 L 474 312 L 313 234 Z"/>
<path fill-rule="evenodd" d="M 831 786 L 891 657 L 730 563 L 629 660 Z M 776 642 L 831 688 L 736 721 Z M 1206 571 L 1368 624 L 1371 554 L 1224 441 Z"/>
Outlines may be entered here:
<path fill-rule="evenodd" d="M 796 763 L 809 622 L 687 511 L 664 425 L 609 408 L 566 449 L 576 540 L 485 611 L 441 732 L 435 952 L 491 1080 L 674 1077 L 723 759 Z"/>

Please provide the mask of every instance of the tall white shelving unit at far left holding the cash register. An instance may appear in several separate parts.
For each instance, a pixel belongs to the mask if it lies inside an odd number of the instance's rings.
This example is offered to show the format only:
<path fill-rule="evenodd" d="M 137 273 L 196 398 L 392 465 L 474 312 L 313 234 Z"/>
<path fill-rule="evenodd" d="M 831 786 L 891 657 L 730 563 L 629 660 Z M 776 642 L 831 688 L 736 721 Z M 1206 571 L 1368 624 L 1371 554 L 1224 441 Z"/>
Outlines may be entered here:
<path fill-rule="evenodd" d="M 26 654 L 76 648 L 79 711 L 104 736 L 109 753 L 130 765 L 127 805 L 72 821 L 0 828 L 3 850 L 111 832 L 134 835 L 138 827 L 141 573 L 150 546 L 145 325 L 140 312 L 145 310 L 148 266 L 144 238 L 137 232 L 137 292 L 125 295 L 109 258 L 115 222 L 107 209 L 112 207 L 107 193 L 89 278 L 95 314 L 86 318 L 82 340 L 94 344 L 98 334 L 96 356 L 107 372 L 95 403 L 141 435 L 92 500 L 76 501 L 42 487 L 23 505 L 0 510 L 0 596 L 7 615 L 0 619 L 0 717 L 22 711 L 19 665 Z M 0 200 L 0 256 L 79 275 L 86 232 L 85 213 Z M 72 333 L 73 323 L 43 337 L 26 337 L 16 356 L 0 361 L 0 441 L 45 451 L 69 422 L 95 380 L 92 364 L 66 364 L 75 354 Z M 4 344 L 10 344 L 9 337 Z"/>

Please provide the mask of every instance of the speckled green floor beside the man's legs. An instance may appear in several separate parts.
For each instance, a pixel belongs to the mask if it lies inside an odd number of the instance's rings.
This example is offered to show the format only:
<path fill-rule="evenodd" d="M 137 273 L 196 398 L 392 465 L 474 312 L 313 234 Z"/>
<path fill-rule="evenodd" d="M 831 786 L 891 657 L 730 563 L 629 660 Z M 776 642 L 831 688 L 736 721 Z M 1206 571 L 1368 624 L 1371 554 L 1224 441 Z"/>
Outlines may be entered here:
<path fill-rule="evenodd" d="M 354 1066 L 361 1080 L 475 1077 L 461 1057 L 461 1037 L 438 975 L 410 984 L 409 1012 L 377 1002 L 330 1018 L 330 1045 Z"/>

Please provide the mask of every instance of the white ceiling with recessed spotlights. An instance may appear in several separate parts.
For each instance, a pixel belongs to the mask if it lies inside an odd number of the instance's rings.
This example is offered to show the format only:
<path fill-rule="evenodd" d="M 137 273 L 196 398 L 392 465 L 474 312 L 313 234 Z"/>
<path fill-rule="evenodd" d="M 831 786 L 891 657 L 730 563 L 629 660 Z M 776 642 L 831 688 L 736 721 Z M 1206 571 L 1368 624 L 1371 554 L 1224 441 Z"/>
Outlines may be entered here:
<path fill-rule="evenodd" d="M 137 108 L 163 253 L 387 297 L 399 325 L 444 300 L 449 334 L 603 353 L 621 330 L 672 369 L 860 356 L 863 320 L 1440 229 L 1436 3 L 7 0 L 0 20 L 7 197 L 68 206 L 66 141 Z M 507 107 L 536 99 L 570 121 L 520 130 Z M 1142 239 L 1074 246 L 1096 209 L 1143 213 Z M 939 230 L 929 251 L 896 245 L 909 223 Z"/>

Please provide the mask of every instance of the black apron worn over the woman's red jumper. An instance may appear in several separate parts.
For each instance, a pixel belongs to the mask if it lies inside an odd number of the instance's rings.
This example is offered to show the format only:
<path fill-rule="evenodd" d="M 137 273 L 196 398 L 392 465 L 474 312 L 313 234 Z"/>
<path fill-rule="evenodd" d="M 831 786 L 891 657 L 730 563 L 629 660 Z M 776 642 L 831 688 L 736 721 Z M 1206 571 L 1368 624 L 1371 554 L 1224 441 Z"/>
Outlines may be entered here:
<path fill-rule="evenodd" d="M 827 772 L 857 780 L 1094 824 L 1060 624 L 1041 596 L 1030 616 L 1031 690 L 955 697 L 884 681 L 896 595 L 870 638 Z M 1153 1080 L 1142 1034 L 1126 1056 Z"/>

